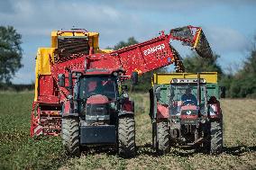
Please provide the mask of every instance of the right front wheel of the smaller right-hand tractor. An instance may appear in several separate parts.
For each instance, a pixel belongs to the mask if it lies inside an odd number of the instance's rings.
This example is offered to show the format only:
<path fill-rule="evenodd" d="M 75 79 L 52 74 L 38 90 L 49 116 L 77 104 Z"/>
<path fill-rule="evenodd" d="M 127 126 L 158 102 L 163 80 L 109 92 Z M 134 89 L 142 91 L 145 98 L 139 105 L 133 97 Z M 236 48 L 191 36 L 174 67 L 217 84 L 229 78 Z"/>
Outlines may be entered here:
<path fill-rule="evenodd" d="M 215 155 L 222 152 L 223 149 L 223 124 L 221 121 L 210 122 L 211 139 L 208 142 L 208 151 Z"/>

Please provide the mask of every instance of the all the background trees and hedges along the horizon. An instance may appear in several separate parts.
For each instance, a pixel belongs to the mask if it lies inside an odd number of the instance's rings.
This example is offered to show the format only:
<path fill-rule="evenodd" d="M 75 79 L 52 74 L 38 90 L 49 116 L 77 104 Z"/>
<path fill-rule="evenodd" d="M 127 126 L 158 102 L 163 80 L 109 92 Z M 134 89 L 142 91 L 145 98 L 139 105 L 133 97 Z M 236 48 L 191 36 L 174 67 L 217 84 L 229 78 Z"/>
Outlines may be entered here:
<path fill-rule="evenodd" d="M 121 49 L 138 43 L 134 37 L 118 42 L 113 48 Z M 23 49 L 21 48 L 22 35 L 12 26 L 0 26 L 0 89 L 6 89 L 12 85 L 11 79 L 15 73 L 23 67 L 21 60 Z M 191 53 L 183 59 L 186 72 L 215 71 L 219 75 L 219 85 L 225 86 L 226 96 L 231 98 L 250 97 L 256 98 L 256 36 L 252 41 L 250 54 L 242 63 L 242 68 L 235 73 L 225 73 L 218 64 L 220 56 L 215 54 L 214 58 L 200 58 L 196 53 Z M 169 72 L 168 67 L 162 67 L 150 71 L 139 79 L 139 85 L 133 87 L 136 92 L 147 92 L 151 87 L 151 76 L 153 73 Z M 131 85 L 131 83 L 126 83 Z M 14 89 L 22 90 L 24 85 L 12 85 Z M 25 85 L 26 86 L 26 85 Z M 32 85 L 29 85 L 31 88 Z"/>

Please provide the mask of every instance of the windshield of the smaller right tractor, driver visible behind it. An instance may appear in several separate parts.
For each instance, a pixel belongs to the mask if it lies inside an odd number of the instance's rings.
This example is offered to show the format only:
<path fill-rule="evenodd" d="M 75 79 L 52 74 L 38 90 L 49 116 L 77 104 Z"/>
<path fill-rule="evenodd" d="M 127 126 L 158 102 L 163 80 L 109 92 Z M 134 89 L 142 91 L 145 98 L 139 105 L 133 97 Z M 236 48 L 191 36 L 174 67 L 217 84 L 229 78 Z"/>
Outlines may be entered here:
<path fill-rule="evenodd" d="M 170 86 L 170 107 L 171 112 L 177 114 L 181 106 L 196 105 L 204 112 L 205 107 L 205 85 L 200 86 L 200 103 L 197 104 L 197 85 L 171 85 Z"/>

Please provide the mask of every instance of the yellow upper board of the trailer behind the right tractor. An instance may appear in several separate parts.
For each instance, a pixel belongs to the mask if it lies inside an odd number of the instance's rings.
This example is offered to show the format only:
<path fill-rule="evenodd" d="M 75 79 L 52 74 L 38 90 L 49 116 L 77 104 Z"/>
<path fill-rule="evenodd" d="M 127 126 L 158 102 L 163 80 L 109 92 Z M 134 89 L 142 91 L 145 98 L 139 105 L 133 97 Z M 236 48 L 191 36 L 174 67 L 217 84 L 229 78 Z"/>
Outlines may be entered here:
<path fill-rule="evenodd" d="M 173 78 L 197 78 L 195 73 L 156 73 L 153 74 L 151 85 L 169 85 Z M 201 72 L 200 78 L 205 78 L 206 83 L 217 83 L 217 72 Z"/>

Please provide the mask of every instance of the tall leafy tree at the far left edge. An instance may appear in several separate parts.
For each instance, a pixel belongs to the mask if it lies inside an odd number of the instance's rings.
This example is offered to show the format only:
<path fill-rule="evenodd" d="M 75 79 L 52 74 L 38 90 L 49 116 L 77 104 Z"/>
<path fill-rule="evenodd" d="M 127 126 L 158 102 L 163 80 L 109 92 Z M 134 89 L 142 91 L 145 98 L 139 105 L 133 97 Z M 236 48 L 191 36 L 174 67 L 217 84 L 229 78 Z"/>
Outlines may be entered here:
<path fill-rule="evenodd" d="M 22 35 L 12 26 L 0 26 L 0 82 L 10 83 L 21 64 Z"/>

